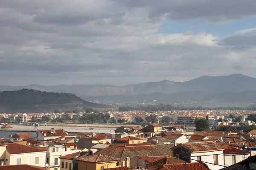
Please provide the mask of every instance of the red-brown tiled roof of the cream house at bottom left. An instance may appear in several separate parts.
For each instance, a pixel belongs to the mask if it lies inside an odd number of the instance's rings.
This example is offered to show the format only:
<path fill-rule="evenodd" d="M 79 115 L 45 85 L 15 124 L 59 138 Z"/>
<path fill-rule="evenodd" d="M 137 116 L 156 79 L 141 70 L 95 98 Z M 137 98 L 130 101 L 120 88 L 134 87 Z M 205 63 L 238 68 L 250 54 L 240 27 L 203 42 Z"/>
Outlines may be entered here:
<path fill-rule="evenodd" d="M 25 146 L 25 145 L 17 144 L 17 143 L 8 144 L 6 147 L 6 150 L 10 154 L 45 152 L 45 150 L 38 149 L 37 147 Z"/>

